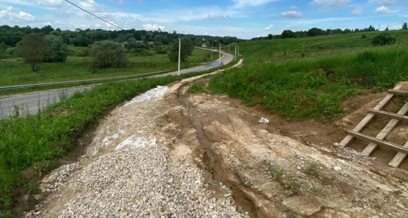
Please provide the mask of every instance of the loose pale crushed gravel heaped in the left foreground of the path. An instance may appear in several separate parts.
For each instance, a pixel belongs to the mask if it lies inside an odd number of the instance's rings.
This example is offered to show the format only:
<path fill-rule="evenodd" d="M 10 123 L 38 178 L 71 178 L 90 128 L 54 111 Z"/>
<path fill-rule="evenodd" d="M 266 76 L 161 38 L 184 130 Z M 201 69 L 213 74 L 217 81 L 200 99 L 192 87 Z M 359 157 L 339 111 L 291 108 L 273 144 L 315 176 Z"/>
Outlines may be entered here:
<path fill-rule="evenodd" d="M 75 174 L 70 186 L 81 194 L 55 214 L 40 210 L 26 217 L 248 217 L 237 212 L 231 194 L 221 199 L 213 197 L 196 165 L 170 162 L 169 150 L 157 145 L 127 146 L 96 157 Z"/>

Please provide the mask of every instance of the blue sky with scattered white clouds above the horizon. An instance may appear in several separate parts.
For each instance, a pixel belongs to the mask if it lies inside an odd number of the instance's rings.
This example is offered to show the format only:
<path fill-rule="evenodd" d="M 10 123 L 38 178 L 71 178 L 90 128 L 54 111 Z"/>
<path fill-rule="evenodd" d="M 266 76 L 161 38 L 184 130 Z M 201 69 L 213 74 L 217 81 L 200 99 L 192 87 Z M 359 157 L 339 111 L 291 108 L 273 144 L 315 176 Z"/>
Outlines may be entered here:
<path fill-rule="evenodd" d="M 70 0 L 123 29 L 250 39 L 283 30 L 400 29 L 408 0 Z M 65 0 L 0 0 L 0 25 L 118 28 Z"/>

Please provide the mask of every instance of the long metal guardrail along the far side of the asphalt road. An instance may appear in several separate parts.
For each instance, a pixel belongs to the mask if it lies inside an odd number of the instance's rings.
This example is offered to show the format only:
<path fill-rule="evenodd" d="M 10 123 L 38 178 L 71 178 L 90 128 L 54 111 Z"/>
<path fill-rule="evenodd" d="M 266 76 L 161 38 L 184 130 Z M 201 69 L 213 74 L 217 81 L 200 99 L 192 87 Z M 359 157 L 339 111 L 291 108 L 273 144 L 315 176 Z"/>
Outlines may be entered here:
<path fill-rule="evenodd" d="M 137 77 L 144 77 L 162 73 L 168 73 L 171 70 L 164 70 L 164 71 L 157 71 L 152 73 L 145 73 L 145 74 L 136 74 L 136 75 L 129 75 L 129 76 L 121 76 L 121 77 L 111 77 L 111 78 L 100 78 L 100 79 L 86 79 L 86 80 L 77 80 L 77 81 L 65 81 L 65 82 L 50 82 L 50 83 L 40 83 L 40 84 L 29 84 L 29 85 L 17 85 L 17 86 L 4 86 L 0 87 L 0 90 L 11 90 L 11 89 L 23 89 L 23 88 L 33 88 L 33 87 L 41 87 L 41 86 L 53 86 L 53 85 L 64 85 L 64 84 L 75 84 L 75 83 L 83 83 L 83 82 L 98 82 L 98 81 L 109 81 L 109 80 L 118 80 L 118 79 L 126 79 L 126 78 L 137 78 Z"/>

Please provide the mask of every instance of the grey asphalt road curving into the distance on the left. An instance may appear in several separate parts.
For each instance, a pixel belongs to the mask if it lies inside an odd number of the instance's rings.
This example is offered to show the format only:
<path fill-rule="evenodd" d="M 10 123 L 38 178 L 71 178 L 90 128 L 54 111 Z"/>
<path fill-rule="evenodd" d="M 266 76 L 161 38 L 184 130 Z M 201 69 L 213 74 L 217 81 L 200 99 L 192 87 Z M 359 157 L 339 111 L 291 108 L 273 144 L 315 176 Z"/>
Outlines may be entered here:
<path fill-rule="evenodd" d="M 223 55 L 221 57 L 221 62 L 223 65 L 234 60 L 234 56 L 221 51 Z M 206 63 L 201 66 L 192 67 L 180 70 L 180 74 L 187 74 L 192 72 L 200 72 L 209 70 L 213 67 L 218 66 L 219 60 L 216 62 Z M 178 71 L 156 75 L 153 77 L 165 77 L 165 76 L 176 76 Z M 48 104 L 53 104 L 58 102 L 61 95 L 72 95 L 75 92 L 82 92 L 84 90 L 92 89 L 93 86 L 81 87 L 81 88 L 71 88 L 57 91 L 41 92 L 41 93 L 31 93 L 31 94 L 22 94 L 17 96 L 5 97 L 0 99 L 0 119 L 8 117 L 15 106 L 18 106 L 20 109 L 20 114 L 24 113 L 37 113 L 38 109 L 47 106 Z"/>

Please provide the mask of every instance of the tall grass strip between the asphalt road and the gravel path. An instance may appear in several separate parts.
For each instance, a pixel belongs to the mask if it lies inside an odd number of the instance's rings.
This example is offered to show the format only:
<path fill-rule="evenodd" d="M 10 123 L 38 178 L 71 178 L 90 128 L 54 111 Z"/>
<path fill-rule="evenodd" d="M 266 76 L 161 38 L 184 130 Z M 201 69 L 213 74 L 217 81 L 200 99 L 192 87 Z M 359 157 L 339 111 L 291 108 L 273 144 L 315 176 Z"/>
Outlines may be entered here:
<path fill-rule="evenodd" d="M 184 74 L 181 78 L 207 72 Z M 76 138 L 114 106 L 177 78 L 107 83 L 90 91 L 75 93 L 70 98 L 62 98 L 36 115 L 21 118 L 15 114 L 0 120 L 0 202 L 5 206 L 12 202 L 10 189 L 20 184 L 18 173 L 22 169 L 37 161 L 64 155 L 75 146 Z"/>

